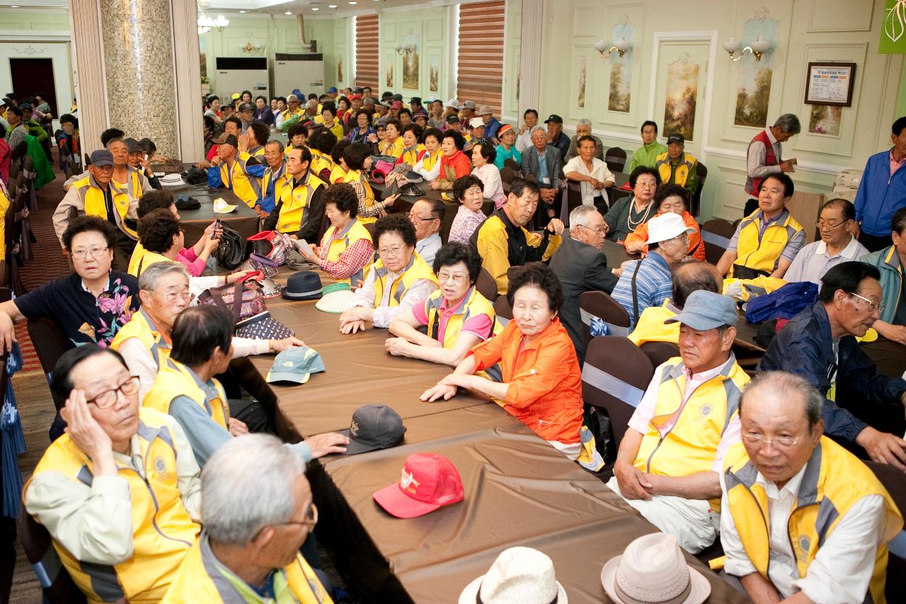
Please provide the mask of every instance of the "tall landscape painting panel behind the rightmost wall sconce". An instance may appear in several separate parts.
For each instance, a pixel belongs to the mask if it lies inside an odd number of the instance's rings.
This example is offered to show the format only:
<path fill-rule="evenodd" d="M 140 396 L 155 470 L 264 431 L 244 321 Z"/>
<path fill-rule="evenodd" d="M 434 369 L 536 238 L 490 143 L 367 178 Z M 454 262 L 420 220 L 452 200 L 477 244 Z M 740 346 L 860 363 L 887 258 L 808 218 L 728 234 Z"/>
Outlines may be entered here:
<path fill-rule="evenodd" d="M 752 54 L 739 59 L 737 79 L 737 102 L 733 123 L 737 126 L 765 128 L 767 107 L 771 100 L 771 80 L 774 77 L 774 49 L 777 47 L 777 21 L 772 19 L 766 8 L 746 22 L 743 29 L 743 44 L 761 36 L 771 43 L 770 48 L 756 61 Z"/>

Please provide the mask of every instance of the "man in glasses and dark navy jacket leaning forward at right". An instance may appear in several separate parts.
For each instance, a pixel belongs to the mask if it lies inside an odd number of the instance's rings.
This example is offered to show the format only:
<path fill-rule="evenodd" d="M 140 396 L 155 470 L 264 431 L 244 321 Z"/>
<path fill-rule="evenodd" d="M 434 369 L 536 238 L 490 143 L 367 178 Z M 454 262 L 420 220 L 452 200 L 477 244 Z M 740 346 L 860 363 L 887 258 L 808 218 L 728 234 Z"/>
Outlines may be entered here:
<path fill-rule="evenodd" d="M 906 441 L 896 435 L 906 430 L 906 380 L 879 375 L 855 339 L 880 317 L 880 277 L 863 262 L 828 270 L 818 301 L 777 333 L 758 369 L 804 377 L 824 395 L 824 433 L 857 443 L 873 461 L 906 472 Z"/>

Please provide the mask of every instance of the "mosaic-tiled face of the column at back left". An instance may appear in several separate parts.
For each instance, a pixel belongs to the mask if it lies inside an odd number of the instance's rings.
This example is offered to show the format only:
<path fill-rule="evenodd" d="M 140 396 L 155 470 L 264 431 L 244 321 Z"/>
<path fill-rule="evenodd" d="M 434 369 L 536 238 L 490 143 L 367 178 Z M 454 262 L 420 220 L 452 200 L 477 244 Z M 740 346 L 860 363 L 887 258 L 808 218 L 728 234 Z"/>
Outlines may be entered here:
<path fill-rule="evenodd" d="M 176 76 L 169 0 L 100 0 L 110 125 L 178 157 Z"/>

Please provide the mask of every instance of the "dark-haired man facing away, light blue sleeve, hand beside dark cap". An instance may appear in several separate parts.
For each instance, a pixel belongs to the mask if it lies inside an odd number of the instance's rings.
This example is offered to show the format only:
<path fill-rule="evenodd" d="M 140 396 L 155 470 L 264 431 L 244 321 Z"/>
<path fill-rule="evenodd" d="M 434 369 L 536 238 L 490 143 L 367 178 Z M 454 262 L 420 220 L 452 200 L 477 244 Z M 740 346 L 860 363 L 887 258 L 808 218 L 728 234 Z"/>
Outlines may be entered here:
<path fill-rule="evenodd" d="M 161 364 L 144 405 L 173 416 L 192 443 L 198 465 L 204 466 L 231 435 L 249 432 L 233 414 L 260 416 L 260 407 L 227 401 L 215 377 L 226 371 L 233 358 L 233 321 L 226 310 L 211 305 L 187 308 L 173 323 L 171 336 L 169 359 Z M 327 453 L 342 453 L 346 443 L 342 434 L 319 434 L 286 446 L 310 462 Z"/>

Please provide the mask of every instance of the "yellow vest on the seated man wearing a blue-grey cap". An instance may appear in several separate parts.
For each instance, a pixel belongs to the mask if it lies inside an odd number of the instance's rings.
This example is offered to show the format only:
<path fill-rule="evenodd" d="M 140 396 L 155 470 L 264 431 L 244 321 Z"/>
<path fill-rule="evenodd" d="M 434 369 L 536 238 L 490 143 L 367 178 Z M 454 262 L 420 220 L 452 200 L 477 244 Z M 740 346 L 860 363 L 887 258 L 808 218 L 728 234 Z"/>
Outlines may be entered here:
<path fill-rule="evenodd" d="M 719 375 L 695 389 L 676 423 L 662 433 L 660 426 L 677 413 L 686 391 L 682 358 L 667 361 L 660 373 L 654 415 L 632 465 L 642 472 L 673 477 L 710 471 L 720 437 L 737 414 L 739 397 L 750 379 L 736 358 L 732 360 Z M 713 510 L 720 509 L 719 497 L 709 502 Z"/>

